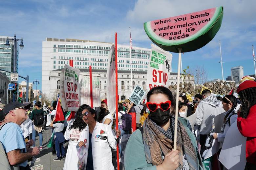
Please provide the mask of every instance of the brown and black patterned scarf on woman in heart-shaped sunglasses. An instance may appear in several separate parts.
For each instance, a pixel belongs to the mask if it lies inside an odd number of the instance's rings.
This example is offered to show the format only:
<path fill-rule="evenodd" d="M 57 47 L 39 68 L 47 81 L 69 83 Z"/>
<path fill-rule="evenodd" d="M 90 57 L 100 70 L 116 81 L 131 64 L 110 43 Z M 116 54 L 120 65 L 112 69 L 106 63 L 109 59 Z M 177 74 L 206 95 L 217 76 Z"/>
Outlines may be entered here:
<path fill-rule="evenodd" d="M 165 131 L 155 122 L 147 118 L 143 125 L 143 140 L 146 160 L 153 165 L 160 165 L 163 156 L 171 152 L 174 141 L 175 116 L 170 118 L 170 126 Z M 187 158 L 189 169 L 198 170 L 198 158 L 196 150 L 185 128 L 178 121 L 177 149 L 180 151 L 179 167 L 182 169 L 183 155 Z"/>

